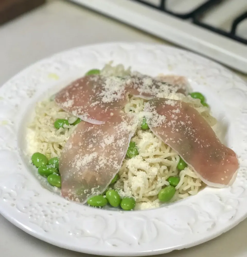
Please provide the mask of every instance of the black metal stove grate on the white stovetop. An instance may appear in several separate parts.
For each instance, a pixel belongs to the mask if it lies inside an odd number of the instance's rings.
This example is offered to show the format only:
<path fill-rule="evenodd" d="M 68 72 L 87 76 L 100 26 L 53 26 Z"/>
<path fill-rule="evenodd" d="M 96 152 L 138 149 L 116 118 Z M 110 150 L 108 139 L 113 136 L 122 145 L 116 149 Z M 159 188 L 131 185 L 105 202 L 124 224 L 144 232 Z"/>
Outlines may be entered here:
<path fill-rule="evenodd" d="M 226 32 L 222 29 L 210 26 L 208 24 L 205 24 L 203 22 L 200 21 L 200 17 L 207 12 L 209 9 L 211 9 L 212 7 L 214 7 L 215 5 L 221 3 L 224 0 L 208 0 L 207 2 L 205 2 L 204 4 L 200 5 L 199 7 L 197 7 L 196 9 L 194 9 L 193 11 L 189 12 L 189 13 L 184 13 L 184 14 L 179 14 L 179 13 L 175 13 L 175 12 L 171 12 L 170 10 L 167 10 L 166 8 L 166 0 L 161 0 L 161 3 L 159 6 L 153 5 L 151 3 L 148 3 L 144 0 L 132 0 L 138 3 L 142 3 L 145 4 L 147 6 L 150 6 L 156 10 L 168 13 L 172 16 L 175 16 L 177 18 L 180 19 L 191 19 L 192 22 L 200 27 L 206 28 L 208 30 L 211 30 L 215 33 L 218 33 L 220 35 L 226 36 L 228 38 L 231 38 L 233 40 L 236 40 L 240 43 L 246 44 L 247 45 L 247 40 L 245 38 L 242 38 L 240 36 L 236 35 L 236 29 L 237 26 L 244 20 L 247 19 L 247 11 L 244 11 L 240 16 L 238 16 L 232 23 L 232 27 L 231 27 L 231 31 L 230 32 Z"/>

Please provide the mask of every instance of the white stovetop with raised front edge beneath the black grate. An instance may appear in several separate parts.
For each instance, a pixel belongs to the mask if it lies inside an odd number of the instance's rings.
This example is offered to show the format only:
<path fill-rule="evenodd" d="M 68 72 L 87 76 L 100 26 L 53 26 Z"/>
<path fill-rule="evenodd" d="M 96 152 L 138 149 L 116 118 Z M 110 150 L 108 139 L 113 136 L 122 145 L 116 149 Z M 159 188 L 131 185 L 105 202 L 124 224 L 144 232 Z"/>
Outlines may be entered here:
<path fill-rule="evenodd" d="M 133 0 L 69 0 L 116 20 L 203 54 L 247 74 L 247 46 Z M 161 0 L 142 0 L 159 6 Z M 190 12 L 206 0 L 167 0 L 166 7 L 176 13 Z M 237 8 L 236 8 L 237 7 Z M 221 1 L 206 12 L 202 22 L 230 32 L 233 20 L 247 9 L 246 0 Z M 182 11 L 184 10 L 184 11 Z M 246 20 L 247 21 L 247 20 Z M 247 22 L 237 26 L 237 35 L 246 38 Z"/>

